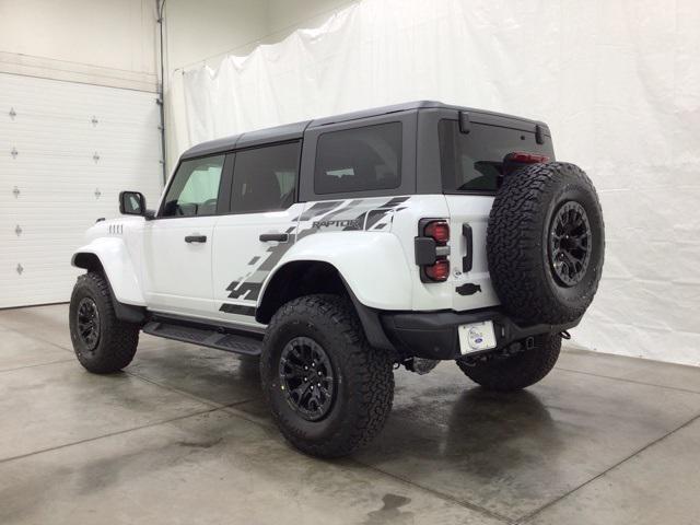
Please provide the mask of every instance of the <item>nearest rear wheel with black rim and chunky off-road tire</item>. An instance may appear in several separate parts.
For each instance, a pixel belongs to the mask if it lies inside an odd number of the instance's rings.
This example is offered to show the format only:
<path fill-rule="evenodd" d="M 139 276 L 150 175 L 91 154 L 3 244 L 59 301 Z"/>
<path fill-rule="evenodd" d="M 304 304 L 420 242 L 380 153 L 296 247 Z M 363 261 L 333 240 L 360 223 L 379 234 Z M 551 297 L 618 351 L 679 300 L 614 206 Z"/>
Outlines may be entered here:
<path fill-rule="evenodd" d="M 369 443 L 394 398 L 390 357 L 370 347 L 352 304 L 336 295 L 299 298 L 275 314 L 260 377 L 284 438 L 318 457 Z"/>

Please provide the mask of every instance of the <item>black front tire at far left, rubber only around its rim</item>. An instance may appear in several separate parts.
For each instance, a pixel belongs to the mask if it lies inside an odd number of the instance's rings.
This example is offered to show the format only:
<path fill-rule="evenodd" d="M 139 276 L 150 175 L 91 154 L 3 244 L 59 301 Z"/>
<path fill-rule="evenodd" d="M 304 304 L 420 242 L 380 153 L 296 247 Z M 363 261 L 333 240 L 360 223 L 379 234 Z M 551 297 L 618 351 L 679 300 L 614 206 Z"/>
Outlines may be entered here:
<path fill-rule="evenodd" d="M 94 301 L 100 314 L 100 339 L 94 350 L 90 350 L 78 334 L 78 307 L 84 298 Z M 94 374 L 109 374 L 127 366 L 139 343 L 139 325 L 119 320 L 113 301 L 107 279 L 93 271 L 78 278 L 70 298 L 69 326 L 73 350 L 80 364 Z"/>

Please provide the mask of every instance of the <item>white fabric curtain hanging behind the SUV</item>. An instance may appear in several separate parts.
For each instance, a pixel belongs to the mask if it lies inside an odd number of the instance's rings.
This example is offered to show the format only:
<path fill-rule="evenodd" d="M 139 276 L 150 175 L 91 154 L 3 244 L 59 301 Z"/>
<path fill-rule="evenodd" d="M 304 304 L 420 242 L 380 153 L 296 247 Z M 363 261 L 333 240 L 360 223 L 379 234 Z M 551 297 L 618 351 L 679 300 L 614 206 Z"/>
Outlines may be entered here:
<path fill-rule="evenodd" d="M 546 120 L 592 176 L 607 256 L 574 339 L 700 364 L 700 2 L 364 0 L 182 77 L 178 148 L 440 100 Z"/>

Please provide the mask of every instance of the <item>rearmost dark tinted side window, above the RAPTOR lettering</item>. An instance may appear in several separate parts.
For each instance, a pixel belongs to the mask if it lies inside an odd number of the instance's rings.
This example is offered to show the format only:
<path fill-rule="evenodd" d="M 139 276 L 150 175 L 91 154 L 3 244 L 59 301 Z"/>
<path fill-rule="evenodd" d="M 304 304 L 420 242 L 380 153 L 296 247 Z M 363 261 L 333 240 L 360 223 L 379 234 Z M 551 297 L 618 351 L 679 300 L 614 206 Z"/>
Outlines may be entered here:
<path fill-rule="evenodd" d="M 330 131 L 318 137 L 316 194 L 390 189 L 400 183 L 401 122 Z"/>

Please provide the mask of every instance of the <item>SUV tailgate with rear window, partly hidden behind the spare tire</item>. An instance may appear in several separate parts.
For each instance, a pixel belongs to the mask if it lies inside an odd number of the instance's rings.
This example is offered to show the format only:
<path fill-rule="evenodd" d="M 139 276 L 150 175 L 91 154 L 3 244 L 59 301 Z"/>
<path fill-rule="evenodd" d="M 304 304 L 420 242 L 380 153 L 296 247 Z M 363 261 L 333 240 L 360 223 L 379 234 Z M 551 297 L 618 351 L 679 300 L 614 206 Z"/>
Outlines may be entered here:
<path fill-rule="evenodd" d="M 503 159 L 522 151 L 553 160 L 551 138 L 537 142 L 535 126 L 497 117 L 470 115 L 469 130 L 462 132 L 457 115 L 438 122 L 443 192 L 450 210 L 455 276 L 453 308 L 479 308 L 499 304 L 491 287 L 487 261 L 487 225 L 495 192 L 503 175 Z M 520 128 L 520 129 L 518 129 Z M 465 287 L 466 284 L 466 287 Z M 459 291 L 459 288 L 462 291 Z"/>

